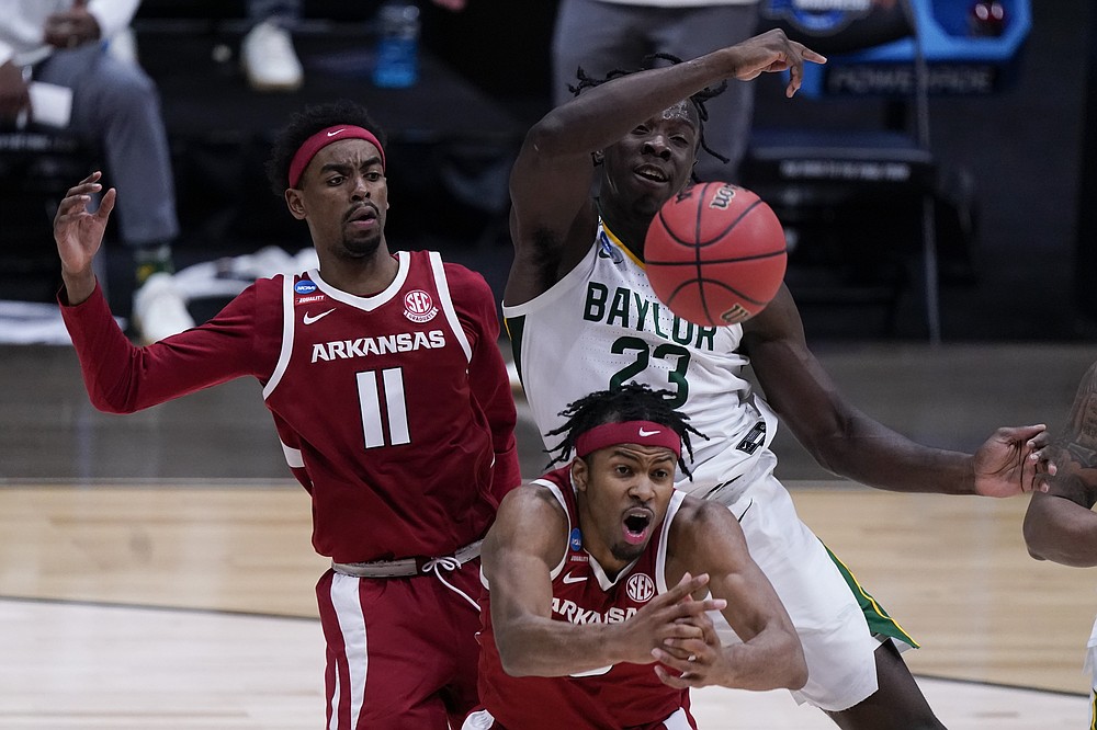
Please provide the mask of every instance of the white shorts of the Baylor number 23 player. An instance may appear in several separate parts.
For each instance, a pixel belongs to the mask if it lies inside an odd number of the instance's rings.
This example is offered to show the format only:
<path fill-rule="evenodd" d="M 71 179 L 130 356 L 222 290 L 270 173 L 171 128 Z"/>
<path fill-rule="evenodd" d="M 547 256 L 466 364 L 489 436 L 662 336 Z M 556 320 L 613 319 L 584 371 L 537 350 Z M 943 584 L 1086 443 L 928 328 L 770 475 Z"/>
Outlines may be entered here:
<path fill-rule="evenodd" d="M 724 489 L 712 499 L 739 520 L 750 557 L 800 635 L 807 684 L 793 697 L 828 711 L 848 709 L 877 691 L 873 652 L 880 641 L 823 543 L 800 520 L 788 490 L 773 476 L 777 457 L 768 450 L 758 456 L 734 491 Z M 726 624 L 724 628 L 731 631 Z M 734 632 L 727 639 L 738 640 Z"/>

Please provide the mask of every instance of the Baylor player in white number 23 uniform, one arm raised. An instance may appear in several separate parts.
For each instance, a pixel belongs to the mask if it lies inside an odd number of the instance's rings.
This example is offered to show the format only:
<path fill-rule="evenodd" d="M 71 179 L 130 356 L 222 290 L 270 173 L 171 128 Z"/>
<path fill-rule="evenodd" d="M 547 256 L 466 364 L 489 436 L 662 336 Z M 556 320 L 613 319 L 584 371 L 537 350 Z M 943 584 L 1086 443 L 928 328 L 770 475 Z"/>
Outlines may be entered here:
<path fill-rule="evenodd" d="M 708 435 L 685 459 L 693 480 L 680 486 L 740 521 L 804 646 L 808 678 L 798 700 L 842 728 L 940 728 L 898 653 L 913 640 L 800 521 L 773 477 L 777 419 L 842 477 L 998 497 L 1031 488 L 1025 456 L 1043 427 L 1000 429 L 974 455 L 913 443 L 841 397 L 808 350 L 785 287 L 745 323 L 705 328 L 675 317 L 644 274 L 648 224 L 689 182 L 702 145 L 703 103 L 693 96 L 785 69 L 791 96 L 805 61 L 825 59 L 770 31 L 593 84 L 551 111 L 527 135 L 511 173 L 516 251 L 504 313 L 546 444 L 567 403 L 629 381 L 672 390 L 674 404 Z M 751 392 L 748 364 L 768 403 Z"/>

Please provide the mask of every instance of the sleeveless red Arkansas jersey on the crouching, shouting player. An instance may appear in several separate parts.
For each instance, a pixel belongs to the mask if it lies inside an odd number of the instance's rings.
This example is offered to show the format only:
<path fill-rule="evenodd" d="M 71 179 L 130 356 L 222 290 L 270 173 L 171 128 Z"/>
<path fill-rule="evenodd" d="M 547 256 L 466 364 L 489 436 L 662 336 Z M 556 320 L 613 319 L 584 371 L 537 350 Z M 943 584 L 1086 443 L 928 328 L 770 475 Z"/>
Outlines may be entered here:
<path fill-rule="evenodd" d="M 575 491 L 568 467 L 534 483 L 552 490 L 568 520 L 567 550 L 552 571 L 553 620 L 573 624 L 623 621 L 666 585 L 666 544 L 670 524 L 686 498 L 675 491 L 667 516 L 644 554 L 609 580 L 601 566 L 583 549 Z M 485 584 L 487 581 L 485 581 Z M 480 703 L 495 718 L 493 727 L 511 730 L 661 728 L 663 721 L 686 708 L 686 689 L 659 681 L 652 664 L 621 663 L 566 677 L 510 676 L 502 670 L 491 630 L 490 585 L 480 596 Z M 680 716 L 679 716 L 680 717 Z M 676 718 L 677 719 L 677 718 Z"/>

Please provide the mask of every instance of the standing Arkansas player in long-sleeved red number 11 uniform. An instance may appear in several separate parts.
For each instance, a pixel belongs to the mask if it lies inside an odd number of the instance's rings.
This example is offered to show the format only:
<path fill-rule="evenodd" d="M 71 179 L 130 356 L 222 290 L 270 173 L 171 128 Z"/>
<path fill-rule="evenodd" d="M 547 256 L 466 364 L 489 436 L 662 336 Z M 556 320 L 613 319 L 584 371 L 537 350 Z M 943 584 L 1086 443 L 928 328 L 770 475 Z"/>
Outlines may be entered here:
<path fill-rule="evenodd" d="M 520 482 L 486 282 L 391 252 L 384 137 L 361 107 L 297 114 L 268 164 L 319 269 L 257 281 L 201 327 L 134 347 L 92 273 L 116 193 L 99 172 L 54 221 L 65 322 L 97 408 L 129 413 L 255 377 L 312 497 L 327 728 L 437 728 L 476 703 L 479 543 Z"/>

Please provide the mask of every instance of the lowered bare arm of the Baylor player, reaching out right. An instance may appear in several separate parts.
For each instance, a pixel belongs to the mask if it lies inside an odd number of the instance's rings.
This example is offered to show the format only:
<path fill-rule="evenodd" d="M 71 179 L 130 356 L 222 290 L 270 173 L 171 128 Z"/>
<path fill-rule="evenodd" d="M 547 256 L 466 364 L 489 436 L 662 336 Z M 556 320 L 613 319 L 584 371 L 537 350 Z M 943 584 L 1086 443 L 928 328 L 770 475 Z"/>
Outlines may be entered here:
<path fill-rule="evenodd" d="M 868 417 L 838 391 L 807 347 L 782 286 L 744 323 L 743 346 L 766 399 L 827 470 L 902 492 L 1007 497 L 1033 488 L 1032 440 L 1043 425 L 999 429 L 974 455 L 924 446 Z"/>

